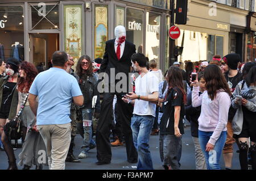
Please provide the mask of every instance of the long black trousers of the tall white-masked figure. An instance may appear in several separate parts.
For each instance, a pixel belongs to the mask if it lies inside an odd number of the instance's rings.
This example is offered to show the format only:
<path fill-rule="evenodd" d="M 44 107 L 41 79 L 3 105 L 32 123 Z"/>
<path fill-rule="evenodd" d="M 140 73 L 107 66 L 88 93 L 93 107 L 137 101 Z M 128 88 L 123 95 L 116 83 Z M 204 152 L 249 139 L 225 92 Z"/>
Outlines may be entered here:
<path fill-rule="evenodd" d="M 99 162 L 110 162 L 112 151 L 109 141 L 110 129 L 112 127 L 113 99 L 117 95 L 118 121 L 122 124 L 125 136 L 127 161 L 137 162 L 138 153 L 133 142 L 133 132 L 131 131 L 131 117 L 133 116 L 133 105 L 123 102 L 122 95 L 125 93 L 104 93 L 101 103 L 100 120 L 96 131 L 97 159 Z"/>

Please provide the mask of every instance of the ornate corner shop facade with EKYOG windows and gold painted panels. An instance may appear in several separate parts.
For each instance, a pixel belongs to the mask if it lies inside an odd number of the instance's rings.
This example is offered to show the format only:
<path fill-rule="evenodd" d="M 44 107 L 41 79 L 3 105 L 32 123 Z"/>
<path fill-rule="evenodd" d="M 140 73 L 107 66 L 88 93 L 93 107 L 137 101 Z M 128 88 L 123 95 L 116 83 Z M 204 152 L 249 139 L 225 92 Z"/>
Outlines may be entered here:
<path fill-rule="evenodd" d="M 18 45 L 22 60 L 46 69 L 55 50 L 65 50 L 75 60 L 82 54 L 102 58 L 105 41 L 114 38 L 118 25 L 126 27 L 137 52 L 155 59 L 160 68 L 169 59 L 167 0 L 1 1 L 0 21 L 5 59 L 13 57 Z"/>

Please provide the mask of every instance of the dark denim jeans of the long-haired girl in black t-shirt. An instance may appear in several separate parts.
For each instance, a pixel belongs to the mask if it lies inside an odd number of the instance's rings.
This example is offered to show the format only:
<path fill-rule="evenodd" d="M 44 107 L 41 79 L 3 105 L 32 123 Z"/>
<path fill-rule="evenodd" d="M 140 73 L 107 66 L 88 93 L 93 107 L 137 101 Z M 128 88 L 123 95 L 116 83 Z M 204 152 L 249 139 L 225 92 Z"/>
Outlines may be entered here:
<path fill-rule="evenodd" d="M 175 135 L 164 135 L 163 137 L 163 165 L 170 165 L 173 170 L 180 170 L 181 137 Z"/>

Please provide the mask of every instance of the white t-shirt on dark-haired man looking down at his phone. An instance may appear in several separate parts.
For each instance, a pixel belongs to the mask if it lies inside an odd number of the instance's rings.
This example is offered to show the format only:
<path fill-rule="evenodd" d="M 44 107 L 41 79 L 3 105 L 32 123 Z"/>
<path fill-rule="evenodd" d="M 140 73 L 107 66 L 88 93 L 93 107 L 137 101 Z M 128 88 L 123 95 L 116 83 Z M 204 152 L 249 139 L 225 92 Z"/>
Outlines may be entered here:
<path fill-rule="evenodd" d="M 135 94 L 137 95 L 146 96 L 158 91 L 158 78 L 151 71 L 148 71 L 143 77 L 139 75 L 135 80 Z M 151 102 L 136 99 L 133 113 L 139 116 L 155 117 L 155 108 L 156 105 Z"/>

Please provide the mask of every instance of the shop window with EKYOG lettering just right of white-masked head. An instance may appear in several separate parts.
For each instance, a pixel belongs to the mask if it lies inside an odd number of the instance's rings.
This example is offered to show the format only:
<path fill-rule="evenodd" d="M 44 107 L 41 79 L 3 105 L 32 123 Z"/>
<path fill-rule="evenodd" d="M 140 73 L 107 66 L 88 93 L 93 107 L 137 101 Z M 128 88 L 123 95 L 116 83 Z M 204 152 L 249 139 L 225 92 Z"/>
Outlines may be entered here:
<path fill-rule="evenodd" d="M 137 53 L 143 53 L 143 11 L 127 8 L 126 37 L 135 44 Z"/>

